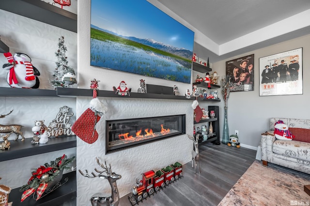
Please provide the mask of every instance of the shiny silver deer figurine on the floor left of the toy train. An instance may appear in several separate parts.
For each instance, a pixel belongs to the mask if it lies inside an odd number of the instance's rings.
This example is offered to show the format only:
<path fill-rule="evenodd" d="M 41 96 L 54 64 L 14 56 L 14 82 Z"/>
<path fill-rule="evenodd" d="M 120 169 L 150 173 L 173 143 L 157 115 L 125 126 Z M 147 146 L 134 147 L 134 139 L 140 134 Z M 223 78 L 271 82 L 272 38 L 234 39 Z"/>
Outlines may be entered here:
<path fill-rule="evenodd" d="M 79 173 L 84 176 L 84 177 L 99 177 L 102 179 L 108 179 L 110 186 L 111 186 L 111 196 L 109 197 L 103 197 L 102 193 L 95 193 L 91 197 L 91 204 L 92 206 L 118 206 L 118 203 L 120 201 L 120 195 L 118 193 L 117 185 L 116 185 L 116 180 L 122 178 L 121 175 L 117 175 L 114 172 L 111 171 L 111 164 L 109 164 L 109 167 L 107 166 L 107 162 L 105 162 L 105 165 L 103 163 L 100 163 L 98 158 L 96 158 L 96 161 L 98 165 L 103 168 L 103 171 L 100 171 L 98 169 L 94 169 L 97 173 L 99 174 L 94 174 L 92 172 L 92 176 L 88 174 L 88 171 L 85 170 L 86 174 L 84 174 L 81 170 L 78 170 Z M 106 173 L 107 175 L 102 175 L 102 173 Z"/>

